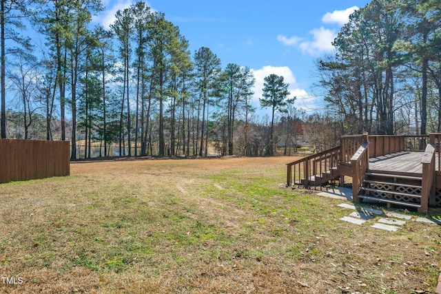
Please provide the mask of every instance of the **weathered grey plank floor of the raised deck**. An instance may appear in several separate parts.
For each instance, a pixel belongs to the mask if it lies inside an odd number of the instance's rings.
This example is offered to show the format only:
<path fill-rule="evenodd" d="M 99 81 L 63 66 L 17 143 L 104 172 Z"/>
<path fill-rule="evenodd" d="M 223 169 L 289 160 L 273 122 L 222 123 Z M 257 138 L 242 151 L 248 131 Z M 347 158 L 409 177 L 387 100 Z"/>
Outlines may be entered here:
<path fill-rule="evenodd" d="M 388 171 L 403 174 L 422 175 L 421 159 L 424 152 L 403 151 L 369 158 L 369 169 L 372 171 Z M 438 161 L 435 160 L 438 170 Z"/>

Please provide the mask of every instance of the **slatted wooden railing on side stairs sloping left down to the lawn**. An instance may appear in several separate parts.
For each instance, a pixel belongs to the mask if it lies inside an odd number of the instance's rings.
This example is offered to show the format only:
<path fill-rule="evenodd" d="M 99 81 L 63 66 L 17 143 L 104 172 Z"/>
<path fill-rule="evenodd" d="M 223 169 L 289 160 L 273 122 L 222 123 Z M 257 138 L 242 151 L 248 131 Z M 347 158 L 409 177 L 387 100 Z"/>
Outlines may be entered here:
<path fill-rule="evenodd" d="M 289 162 L 287 164 L 287 187 L 302 179 L 303 182 L 300 184 L 309 187 L 311 176 L 321 175 L 325 171 L 337 167 L 338 162 L 340 162 L 340 146 Z"/>

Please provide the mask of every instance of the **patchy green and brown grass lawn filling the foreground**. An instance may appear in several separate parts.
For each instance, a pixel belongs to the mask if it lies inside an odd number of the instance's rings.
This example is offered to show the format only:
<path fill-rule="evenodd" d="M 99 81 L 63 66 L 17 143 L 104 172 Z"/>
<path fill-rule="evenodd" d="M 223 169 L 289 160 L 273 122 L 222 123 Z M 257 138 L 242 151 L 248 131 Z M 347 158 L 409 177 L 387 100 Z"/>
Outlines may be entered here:
<path fill-rule="evenodd" d="M 435 291 L 440 226 L 342 222 L 342 200 L 279 187 L 292 160 L 73 162 L 1 184 L 0 292 Z"/>

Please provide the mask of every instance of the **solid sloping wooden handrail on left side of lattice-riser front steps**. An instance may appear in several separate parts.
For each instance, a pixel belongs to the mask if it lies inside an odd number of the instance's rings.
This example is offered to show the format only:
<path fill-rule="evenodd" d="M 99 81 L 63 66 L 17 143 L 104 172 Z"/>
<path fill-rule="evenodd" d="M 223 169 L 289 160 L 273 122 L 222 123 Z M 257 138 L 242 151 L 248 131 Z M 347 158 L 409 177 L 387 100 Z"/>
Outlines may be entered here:
<path fill-rule="evenodd" d="M 358 191 L 365 179 L 367 169 L 369 169 L 369 141 L 362 143 L 355 154 L 351 157 L 352 165 L 352 201 L 360 202 Z"/>

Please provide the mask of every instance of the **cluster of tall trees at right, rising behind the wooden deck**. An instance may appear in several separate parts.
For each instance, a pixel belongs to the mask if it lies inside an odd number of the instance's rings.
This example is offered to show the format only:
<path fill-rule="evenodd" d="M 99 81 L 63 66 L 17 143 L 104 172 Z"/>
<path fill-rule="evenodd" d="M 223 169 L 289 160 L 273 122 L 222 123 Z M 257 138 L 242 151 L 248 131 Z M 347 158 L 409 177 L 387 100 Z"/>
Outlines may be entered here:
<path fill-rule="evenodd" d="M 318 90 L 342 134 L 441 132 L 439 0 L 374 0 L 318 61 Z"/>

